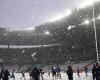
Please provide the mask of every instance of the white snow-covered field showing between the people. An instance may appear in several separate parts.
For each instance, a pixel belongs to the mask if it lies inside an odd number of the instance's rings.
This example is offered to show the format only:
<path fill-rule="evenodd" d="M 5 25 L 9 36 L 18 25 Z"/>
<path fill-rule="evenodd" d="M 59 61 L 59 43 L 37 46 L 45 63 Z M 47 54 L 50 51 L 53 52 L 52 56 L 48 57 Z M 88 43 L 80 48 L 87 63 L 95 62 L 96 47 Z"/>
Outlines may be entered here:
<path fill-rule="evenodd" d="M 15 73 L 15 77 L 16 77 L 15 80 L 24 80 L 24 79 L 20 79 L 22 77 L 21 73 Z M 26 77 L 26 80 L 30 80 L 28 73 L 25 73 L 25 77 Z M 49 76 L 48 73 L 45 73 L 43 77 L 44 77 L 44 80 L 53 80 L 52 75 Z M 13 79 L 10 78 L 9 80 L 13 80 Z M 56 80 L 68 80 L 66 73 L 62 72 L 61 79 L 56 79 Z M 92 80 L 92 75 L 91 73 L 88 73 L 88 76 L 86 77 L 85 73 L 80 73 L 80 77 L 78 77 L 77 74 L 74 73 L 73 80 Z"/>

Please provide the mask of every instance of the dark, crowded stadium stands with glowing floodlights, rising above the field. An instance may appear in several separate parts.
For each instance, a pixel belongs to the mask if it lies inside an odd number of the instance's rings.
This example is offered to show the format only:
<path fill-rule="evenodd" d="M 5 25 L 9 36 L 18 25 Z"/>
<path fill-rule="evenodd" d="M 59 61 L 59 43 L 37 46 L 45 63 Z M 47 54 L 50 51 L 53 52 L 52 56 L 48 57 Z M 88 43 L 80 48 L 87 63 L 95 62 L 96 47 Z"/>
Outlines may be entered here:
<path fill-rule="evenodd" d="M 35 29 L 0 28 L 1 64 L 65 64 L 96 62 L 92 7 L 72 10 L 68 17 Z M 94 4 L 100 52 L 100 2 Z"/>

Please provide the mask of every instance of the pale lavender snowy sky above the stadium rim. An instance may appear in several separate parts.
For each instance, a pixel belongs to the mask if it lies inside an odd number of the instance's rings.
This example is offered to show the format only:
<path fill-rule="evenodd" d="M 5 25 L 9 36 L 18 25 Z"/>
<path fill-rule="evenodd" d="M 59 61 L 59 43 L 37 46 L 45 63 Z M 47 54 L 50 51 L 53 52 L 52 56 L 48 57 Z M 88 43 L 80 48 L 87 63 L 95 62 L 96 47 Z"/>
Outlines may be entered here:
<path fill-rule="evenodd" d="M 6 28 L 34 27 L 48 22 L 58 13 L 77 7 L 81 2 L 82 0 L 0 0 L 0 25 Z"/>

